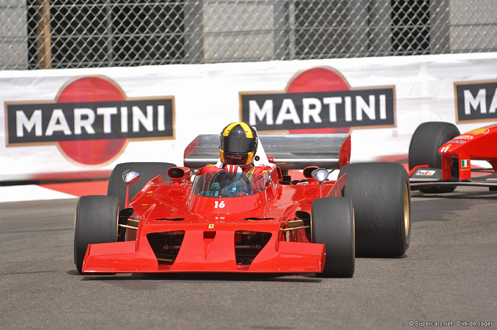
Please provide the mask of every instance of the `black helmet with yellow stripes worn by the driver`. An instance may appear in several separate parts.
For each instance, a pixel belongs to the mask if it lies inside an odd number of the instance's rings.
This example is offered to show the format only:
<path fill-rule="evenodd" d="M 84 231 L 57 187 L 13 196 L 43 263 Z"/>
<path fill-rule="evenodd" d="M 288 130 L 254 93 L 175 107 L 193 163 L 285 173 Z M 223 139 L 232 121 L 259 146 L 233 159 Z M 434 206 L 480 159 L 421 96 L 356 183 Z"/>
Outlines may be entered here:
<path fill-rule="evenodd" d="M 249 165 L 257 150 L 257 132 L 247 123 L 226 126 L 219 137 L 221 162 L 229 165 Z"/>

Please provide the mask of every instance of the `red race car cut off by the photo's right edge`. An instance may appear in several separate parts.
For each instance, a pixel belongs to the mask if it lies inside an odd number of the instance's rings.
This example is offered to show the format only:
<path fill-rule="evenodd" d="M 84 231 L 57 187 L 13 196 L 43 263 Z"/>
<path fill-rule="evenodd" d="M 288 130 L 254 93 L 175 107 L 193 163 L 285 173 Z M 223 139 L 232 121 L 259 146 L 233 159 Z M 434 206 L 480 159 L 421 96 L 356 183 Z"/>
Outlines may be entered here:
<path fill-rule="evenodd" d="M 487 161 L 492 167 L 472 167 L 471 161 Z M 457 185 L 497 190 L 497 126 L 460 134 L 451 123 L 422 123 L 409 146 L 409 169 L 412 190 L 444 193 Z"/>

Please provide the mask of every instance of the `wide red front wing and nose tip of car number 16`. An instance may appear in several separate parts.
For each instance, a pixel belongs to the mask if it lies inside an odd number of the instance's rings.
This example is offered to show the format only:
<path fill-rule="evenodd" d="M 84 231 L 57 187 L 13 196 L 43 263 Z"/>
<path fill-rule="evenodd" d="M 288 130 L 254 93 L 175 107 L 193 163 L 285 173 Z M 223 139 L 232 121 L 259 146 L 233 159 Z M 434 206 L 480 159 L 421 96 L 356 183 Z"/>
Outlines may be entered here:
<path fill-rule="evenodd" d="M 241 265 L 236 259 L 234 231 L 217 231 L 209 244 L 204 233 L 204 230 L 186 231 L 172 264 L 161 264 L 143 239 L 90 244 L 83 261 L 83 273 L 310 273 L 324 269 L 324 244 L 277 241 L 277 235 L 272 235 L 249 265 Z"/>

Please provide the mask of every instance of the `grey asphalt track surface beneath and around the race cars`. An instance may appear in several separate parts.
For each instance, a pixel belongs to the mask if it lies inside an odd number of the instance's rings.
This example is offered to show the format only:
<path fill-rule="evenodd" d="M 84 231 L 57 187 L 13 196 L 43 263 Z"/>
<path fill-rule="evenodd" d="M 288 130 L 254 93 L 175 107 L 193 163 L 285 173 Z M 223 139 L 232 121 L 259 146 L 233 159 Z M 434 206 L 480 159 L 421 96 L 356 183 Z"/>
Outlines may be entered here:
<path fill-rule="evenodd" d="M 485 188 L 414 192 L 407 255 L 357 259 L 348 279 L 80 275 L 76 203 L 0 203 L 0 329 L 421 328 L 410 321 L 497 327 L 497 192 Z"/>

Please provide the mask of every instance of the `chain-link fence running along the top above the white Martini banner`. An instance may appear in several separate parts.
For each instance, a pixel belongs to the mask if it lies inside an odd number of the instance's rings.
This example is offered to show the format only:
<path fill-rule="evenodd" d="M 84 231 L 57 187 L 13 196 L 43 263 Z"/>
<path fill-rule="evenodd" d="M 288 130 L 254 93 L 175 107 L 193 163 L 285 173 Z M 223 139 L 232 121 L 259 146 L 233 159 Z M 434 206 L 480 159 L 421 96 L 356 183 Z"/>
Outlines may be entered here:
<path fill-rule="evenodd" d="M 0 0 L 0 69 L 489 52 L 496 35 L 496 0 Z"/>

